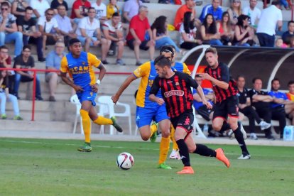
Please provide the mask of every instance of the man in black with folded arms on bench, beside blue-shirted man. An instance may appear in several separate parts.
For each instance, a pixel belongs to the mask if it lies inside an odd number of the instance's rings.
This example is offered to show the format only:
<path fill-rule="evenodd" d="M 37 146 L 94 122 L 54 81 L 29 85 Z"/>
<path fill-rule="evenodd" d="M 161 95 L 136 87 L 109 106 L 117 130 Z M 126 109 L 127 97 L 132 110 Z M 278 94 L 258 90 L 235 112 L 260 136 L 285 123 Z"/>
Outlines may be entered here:
<path fill-rule="evenodd" d="M 253 89 L 249 91 L 249 97 L 252 107 L 255 108 L 257 114 L 263 118 L 266 123 L 271 124 L 271 102 L 273 102 L 273 97 L 268 95 L 262 89 L 262 80 L 255 77 L 252 80 L 254 85 Z M 271 128 L 264 130 L 266 138 L 274 140 L 275 138 L 271 135 Z"/>

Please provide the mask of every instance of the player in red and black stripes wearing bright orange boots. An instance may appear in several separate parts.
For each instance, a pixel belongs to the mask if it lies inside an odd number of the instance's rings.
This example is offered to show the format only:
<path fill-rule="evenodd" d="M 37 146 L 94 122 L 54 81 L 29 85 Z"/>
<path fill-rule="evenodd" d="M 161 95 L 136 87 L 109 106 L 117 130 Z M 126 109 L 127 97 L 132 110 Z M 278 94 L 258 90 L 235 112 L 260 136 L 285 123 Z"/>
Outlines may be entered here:
<path fill-rule="evenodd" d="M 195 144 L 190 135 L 194 121 L 192 112 L 193 94 L 191 87 L 197 89 L 203 104 L 210 109 L 212 108 L 212 105 L 206 101 L 202 88 L 197 85 L 197 82 L 193 80 L 190 75 L 183 72 L 173 72 L 173 70 L 171 70 L 170 60 L 165 58 L 164 55 L 160 55 L 156 58 L 154 64 L 158 76 L 155 78 L 151 87 L 149 99 L 160 105 L 165 103 L 170 121 L 173 127 L 175 127 L 175 141 L 180 149 L 180 157 L 184 164 L 183 170 L 179 171 L 178 174 L 194 173 L 190 165 L 189 153 L 216 157 L 229 168 L 229 160 L 224 155 L 222 148 L 218 148 L 214 151 L 205 145 Z M 159 89 L 161 89 L 163 98 L 156 97 Z"/>

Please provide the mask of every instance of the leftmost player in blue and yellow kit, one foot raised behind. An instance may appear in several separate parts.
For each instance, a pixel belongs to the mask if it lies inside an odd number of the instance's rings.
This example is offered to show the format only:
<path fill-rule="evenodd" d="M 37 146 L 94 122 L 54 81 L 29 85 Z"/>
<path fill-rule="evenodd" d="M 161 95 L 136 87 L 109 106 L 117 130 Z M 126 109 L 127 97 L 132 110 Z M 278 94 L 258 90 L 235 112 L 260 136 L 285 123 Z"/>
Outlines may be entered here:
<path fill-rule="evenodd" d="M 61 60 L 61 78 L 67 85 L 75 89 L 77 97 L 82 104 L 80 114 L 82 117 L 82 128 L 85 134 L 85 144 L 77 148 L 77 150 L 90 152 L 92 151 L 90 143 L 91 120 L 99 125 L 113 125 L 119 132 L 123 130 L 116 123 L 115 116 L 112 116 L 110 119 L 98 116 L 95 109 L 95 97 L 97 96 L 98 86 L 106 72 L 104 65 L 95 55 L 82 51 L 82 43 L 79 39 L 72 38 L 69 45 L 70 53 L 65 55 Z M 100 70 L 97 81 L 95 79 L 94 67 Z M 67 72 L 73 81 L 67 78 Z"/>

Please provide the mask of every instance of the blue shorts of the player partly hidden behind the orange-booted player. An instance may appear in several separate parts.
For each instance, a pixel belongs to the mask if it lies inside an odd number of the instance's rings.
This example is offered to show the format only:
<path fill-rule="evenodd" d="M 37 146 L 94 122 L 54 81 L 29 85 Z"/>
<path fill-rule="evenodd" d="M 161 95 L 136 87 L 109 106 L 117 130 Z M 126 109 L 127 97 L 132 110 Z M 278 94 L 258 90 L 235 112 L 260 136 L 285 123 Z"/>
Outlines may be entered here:
<path fill-rule="evenodd" d="M 157 107 L 137 107 L 136 109 L 136 124 L 138 128 L 142 126 L 150 125 L 151 121 L 162 121 L 165 119 L 170 119 L 165 109 L 165 104 L 162 106 L 157 105 Z"/>

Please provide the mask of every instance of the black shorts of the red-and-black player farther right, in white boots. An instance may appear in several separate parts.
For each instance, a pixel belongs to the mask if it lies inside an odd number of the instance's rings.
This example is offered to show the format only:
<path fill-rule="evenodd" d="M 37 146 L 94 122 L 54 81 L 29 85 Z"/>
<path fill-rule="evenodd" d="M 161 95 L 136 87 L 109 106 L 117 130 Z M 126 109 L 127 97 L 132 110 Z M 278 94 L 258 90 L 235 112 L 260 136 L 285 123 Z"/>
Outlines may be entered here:
<path fill-rule="evenodd" d="M 222 102 L 217 102 L 214 104 L 213 107 L 213 118 L 215 119 L 217 117 L 224 118 L 227 120 L 228 116 L 233 118 L 238 118 L 239 116 L 239 99 L 236 97 L 236 95 L 233 95 L 232 97 L 228 97 Z"/>

